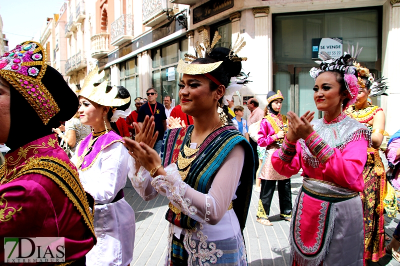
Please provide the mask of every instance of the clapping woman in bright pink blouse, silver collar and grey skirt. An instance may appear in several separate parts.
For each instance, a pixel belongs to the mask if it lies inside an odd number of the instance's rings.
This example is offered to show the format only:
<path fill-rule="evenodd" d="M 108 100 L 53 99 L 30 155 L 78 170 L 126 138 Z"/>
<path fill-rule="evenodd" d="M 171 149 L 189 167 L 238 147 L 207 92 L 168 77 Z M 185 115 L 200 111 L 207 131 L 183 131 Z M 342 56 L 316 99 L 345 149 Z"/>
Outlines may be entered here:
<path fill-rule="evenodd" d="M 312 68 L 314 101 L 324 117 L 309 123 L 288 112 L 289 130 L 273 153 L 273 168 L 290 177 L 302 168 L 303 185 L 293 207 L 290 265 L 363 264 L 362 169 L 370 131 L 343 112 L 358 94 L 357 72 L 345 54 Z"/>

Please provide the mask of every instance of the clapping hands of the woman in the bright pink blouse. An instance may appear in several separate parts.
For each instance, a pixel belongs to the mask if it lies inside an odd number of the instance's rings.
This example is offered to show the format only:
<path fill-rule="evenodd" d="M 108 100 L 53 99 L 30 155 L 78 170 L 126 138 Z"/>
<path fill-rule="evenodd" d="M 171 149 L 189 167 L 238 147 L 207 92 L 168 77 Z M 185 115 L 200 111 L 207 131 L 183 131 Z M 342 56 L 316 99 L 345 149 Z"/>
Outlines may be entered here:
<path fill-rule="evenodd" d="M 289 131 L 286 134 L 286 139 L 294 143 L 297 140 L 306 139 L 313 131 L 313 127 L 310 124 L 314 118 L 315 112 L 306 111 L 301 117 L 298 117 L 294 112 L 287 112 L 287 118 L 289 119 Z"/>

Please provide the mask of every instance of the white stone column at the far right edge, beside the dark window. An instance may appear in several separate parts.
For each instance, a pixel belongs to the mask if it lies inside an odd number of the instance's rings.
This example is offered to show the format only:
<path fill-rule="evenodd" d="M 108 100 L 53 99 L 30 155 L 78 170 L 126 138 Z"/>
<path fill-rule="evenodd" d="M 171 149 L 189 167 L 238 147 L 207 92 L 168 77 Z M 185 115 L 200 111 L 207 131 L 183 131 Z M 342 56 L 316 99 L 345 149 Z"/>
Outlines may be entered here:
<path fill-rule="evenodd" d="M 388 96 L 380 96 L 381 106 L 386 114 L 385 130 L 394 134 L 400 129 L 398 123 L 398 102 L 400 102 L 400 0 L 390 0 L 383 5 L 382 30 L 382 75 L 387 78 Z"/>

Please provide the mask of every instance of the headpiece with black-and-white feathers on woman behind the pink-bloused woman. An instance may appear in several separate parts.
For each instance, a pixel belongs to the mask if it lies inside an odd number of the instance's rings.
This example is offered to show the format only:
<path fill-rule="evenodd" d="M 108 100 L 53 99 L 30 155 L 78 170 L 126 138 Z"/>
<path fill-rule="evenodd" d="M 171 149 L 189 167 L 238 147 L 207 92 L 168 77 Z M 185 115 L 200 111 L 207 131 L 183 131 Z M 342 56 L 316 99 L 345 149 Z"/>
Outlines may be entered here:
<path fill-rule="evenodd" d="M 389 88 L 386 85 L 386 80 L 385 78 L 381 77 L 378 79 L 375 79 L 375 77 L 372 75 L 372 73 L 369 72 L 369 69 L 361 66 L 356 60 L 358 55 L 361 53 L 362 51 L 362 47 L 358 50 L 358 42 L 357 42 L 357 46 L 355 48 L 355 53 L 354 52 L 354 45 L 351 45 L 351 54 L 354 54 L 353 58 L 354 58 L 354 66 L 357 69 L 358 72 L 358 85 L 361 88 L 367 88 L 370 89 L 371 92 L 369 93 L 369 96 L 379 96 L 379 95 L 387 95 L 387 93 L 385 93 L 385 91 Z M 347 46 L 347 53 L 350 53 L 350 44 L 348 44 Z M 369 82 L 367 82 L 366 84 L 363 82 L 361 77 L 366 77 L 367 80 Z M 368 84 L 369 83 L 369 84 Z"/>

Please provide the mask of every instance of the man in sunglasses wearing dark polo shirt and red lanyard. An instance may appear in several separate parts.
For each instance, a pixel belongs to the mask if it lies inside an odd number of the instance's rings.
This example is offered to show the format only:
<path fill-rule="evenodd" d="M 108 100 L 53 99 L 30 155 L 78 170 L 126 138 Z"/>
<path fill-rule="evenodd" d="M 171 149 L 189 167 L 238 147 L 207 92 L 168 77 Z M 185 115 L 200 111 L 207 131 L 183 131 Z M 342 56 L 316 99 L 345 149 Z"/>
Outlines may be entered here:
<path fill-rule="evenodd" d="M 154 116 L 154 123 L 155 123 L 154 132 L 158 131 L 158 137 L 157 137 L 157 141 L 154 144 L 153 149 L 157 153 L 160 153 L 162 138 L 164 137 L 164 132 L 166 130 L 165 108 L 161 103 L 156 101 L 158 94 L 154 88 L 147 89 L 146 95 L 148 98 L 148 102 L 144 103 L 140 107 L 139 113 L 137 115 L 137 123 L 141 127 L 141 125 L 144 121 L 144 117 L 146 115 Z"/>

